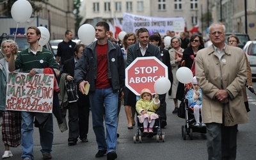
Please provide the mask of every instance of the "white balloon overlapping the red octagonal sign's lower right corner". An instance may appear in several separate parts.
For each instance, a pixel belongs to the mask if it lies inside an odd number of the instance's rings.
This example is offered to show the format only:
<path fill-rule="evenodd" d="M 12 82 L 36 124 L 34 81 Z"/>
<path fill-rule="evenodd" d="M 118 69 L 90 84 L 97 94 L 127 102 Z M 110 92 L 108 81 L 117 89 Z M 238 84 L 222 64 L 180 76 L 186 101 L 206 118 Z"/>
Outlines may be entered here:
<path fill-rule="evenodd" d="M 160 77 L 154 84 L 154 90 L 157 94 L 163 95 L 167 93 L 171 88 L 171 82 L 166 77 Z"/>

